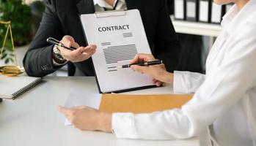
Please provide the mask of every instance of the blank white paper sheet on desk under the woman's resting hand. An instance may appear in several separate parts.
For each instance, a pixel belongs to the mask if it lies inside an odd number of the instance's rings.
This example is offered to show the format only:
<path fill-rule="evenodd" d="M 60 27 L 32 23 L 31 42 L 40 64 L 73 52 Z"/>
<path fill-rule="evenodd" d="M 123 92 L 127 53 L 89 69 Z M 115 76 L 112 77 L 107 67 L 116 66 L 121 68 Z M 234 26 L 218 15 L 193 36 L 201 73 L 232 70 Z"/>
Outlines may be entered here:
<path fill-rule="evenodd" d="M 76 89 L 73 89 L 73 91 L 71 91 L 70 95 L 67 97 L 64 107 L 72 108 L 78 106 L 87 106 L 98 110 L 100 108 L 100 101 L 100 93 L 78 91 Z M 65 126 L 70 125 L 71 123 L 67 119 L 65 119 Z"/>

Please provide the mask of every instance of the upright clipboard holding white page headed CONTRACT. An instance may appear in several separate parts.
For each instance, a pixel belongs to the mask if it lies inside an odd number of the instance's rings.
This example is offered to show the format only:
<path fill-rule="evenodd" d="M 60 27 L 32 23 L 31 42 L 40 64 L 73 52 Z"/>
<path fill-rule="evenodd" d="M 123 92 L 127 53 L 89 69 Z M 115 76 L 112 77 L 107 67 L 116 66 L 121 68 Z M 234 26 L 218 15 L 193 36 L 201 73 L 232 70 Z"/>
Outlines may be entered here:
<path fill-rule="evenodd" d="M 95 12 L 80 15 L 80 19 L 87 44 L 97 45 L 92 64 L 100 93 L 156 87 L 145 74 L 117 69 L 137 53 L 151 54 L 138 9 Z"/>

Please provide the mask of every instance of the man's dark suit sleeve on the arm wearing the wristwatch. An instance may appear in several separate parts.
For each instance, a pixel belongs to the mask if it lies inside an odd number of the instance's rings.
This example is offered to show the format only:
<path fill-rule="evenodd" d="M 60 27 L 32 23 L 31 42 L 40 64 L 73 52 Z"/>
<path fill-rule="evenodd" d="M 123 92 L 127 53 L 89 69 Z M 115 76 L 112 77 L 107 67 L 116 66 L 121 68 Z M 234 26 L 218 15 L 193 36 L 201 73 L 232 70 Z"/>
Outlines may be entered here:
<path fill-rule="evenodd" d="M 37 34 L 23 58 L 23 66 L 26 73 L 33 77 L 43 77 L 55 72 L 52 60 L 54 45 L 46 42 L 48 37 L 61 39 L 63 36 L 62 25 L 56 15 L 56 7 L 53 0 L 45 0 L 45 12 L 37 30 Z"/>

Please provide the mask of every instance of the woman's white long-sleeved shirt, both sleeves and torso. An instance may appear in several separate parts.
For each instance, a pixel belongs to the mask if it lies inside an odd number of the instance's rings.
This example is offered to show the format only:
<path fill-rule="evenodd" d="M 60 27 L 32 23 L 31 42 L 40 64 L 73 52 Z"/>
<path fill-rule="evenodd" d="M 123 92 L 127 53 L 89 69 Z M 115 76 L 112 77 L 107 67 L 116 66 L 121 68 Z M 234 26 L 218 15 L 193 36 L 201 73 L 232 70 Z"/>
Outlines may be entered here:
<path fill-rule="evenodd" d="M 119 138 L 186 139 L 210 126 L 219 145 L 256 145 L 256 1 L 224 16 L 208 55 L 206 75 L 174 73 L 174 91 L 194 93 L 181 109 L 114 113 Z"/>

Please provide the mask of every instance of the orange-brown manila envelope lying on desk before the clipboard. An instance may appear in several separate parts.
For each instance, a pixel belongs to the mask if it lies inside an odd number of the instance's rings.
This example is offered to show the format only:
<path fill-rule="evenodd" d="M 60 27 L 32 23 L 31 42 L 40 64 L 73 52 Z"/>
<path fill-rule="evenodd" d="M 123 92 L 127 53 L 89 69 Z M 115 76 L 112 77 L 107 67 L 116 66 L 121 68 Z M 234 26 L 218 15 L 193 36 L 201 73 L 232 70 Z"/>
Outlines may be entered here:
<path fill-rule="evenodd" d="M 192 99 L 188 95 L 124 95 L 103 94 L 100 111 L 147 113 L 180 108 Z"/>

